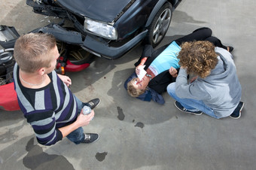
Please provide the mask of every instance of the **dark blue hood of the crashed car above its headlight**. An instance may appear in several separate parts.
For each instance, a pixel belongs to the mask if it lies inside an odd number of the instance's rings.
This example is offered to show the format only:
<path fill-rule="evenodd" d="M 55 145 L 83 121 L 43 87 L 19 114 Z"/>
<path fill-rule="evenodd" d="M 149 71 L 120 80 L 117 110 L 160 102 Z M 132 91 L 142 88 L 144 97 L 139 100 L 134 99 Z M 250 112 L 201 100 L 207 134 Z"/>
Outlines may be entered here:
<path fill-rule="evenodd" d="M 131 0 L 57 0 L 64 8 L 93 20 L 111 23 Z"/>

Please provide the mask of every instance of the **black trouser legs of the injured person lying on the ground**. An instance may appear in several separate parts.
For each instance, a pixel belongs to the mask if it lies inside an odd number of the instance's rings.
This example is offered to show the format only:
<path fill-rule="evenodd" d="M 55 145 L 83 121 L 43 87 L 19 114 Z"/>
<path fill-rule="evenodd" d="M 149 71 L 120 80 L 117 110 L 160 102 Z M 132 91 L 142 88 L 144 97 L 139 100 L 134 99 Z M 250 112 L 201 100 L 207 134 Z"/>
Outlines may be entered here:
<path fill-rule="evenodd" d="M 221 44 L 221 40 L 212 36 L 212 29 L 206 27 L 196 29 L 189 35 L 185 35 L 184 37 L 175 40 L 179 46 L 181 46 L 182 43 L 189 41 L 210 41 L 215 47 L 221 47 L 227 50 L 227 47 Z"/>

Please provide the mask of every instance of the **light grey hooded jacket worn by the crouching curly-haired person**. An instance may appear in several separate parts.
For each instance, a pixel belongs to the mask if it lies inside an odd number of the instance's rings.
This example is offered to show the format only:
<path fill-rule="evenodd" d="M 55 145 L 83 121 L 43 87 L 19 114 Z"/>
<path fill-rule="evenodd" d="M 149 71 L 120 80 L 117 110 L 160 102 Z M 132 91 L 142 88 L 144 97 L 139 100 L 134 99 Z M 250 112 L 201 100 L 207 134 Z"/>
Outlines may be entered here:
<path fill-rule="evenodd" d="M 215 52 L 218 64 L 206 78 L 198 77 L 193 83 L 187 83 L 187 72 L 180 69 L 175 94 L 179 98 L 202 100 L 217 117 L 227 117 L 239 104 L 241 85 L 231 53 L 220 47 L 215 47 Z"/>

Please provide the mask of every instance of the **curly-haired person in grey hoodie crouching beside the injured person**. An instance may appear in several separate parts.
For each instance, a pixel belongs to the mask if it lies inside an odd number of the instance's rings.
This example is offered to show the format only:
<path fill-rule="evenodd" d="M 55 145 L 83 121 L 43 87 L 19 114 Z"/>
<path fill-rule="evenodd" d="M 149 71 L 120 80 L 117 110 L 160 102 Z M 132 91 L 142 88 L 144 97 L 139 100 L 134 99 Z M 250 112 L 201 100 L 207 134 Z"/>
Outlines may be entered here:
<path fill-rule="evenodd" d="M 241 116 L 244 107 L 240 102 L 241 85 L 228 50 L 209 41 L 181 44 L 178 53 L 181 68 L 175 83 L 167 87 L 178 110 L 196 115 L 205 113 L 217 119 Z M 188 81 L 187 74 L 194 77 Z"/>

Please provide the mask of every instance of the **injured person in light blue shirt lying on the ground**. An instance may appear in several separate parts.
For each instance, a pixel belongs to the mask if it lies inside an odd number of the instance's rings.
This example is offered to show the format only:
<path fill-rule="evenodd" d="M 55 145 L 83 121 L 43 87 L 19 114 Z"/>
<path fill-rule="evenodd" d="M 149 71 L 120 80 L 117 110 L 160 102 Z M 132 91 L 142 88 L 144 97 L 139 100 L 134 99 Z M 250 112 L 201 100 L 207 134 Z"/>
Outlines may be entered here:
<path fill-rule="evenodd" d="M 178 75 L 180 65 L 177 56 L 181 44 L 186 41 L 210 41 L 215 47 L 228 50 L 218 38 L 212 37 L 212 30 L 206 27 L 196 29 L 157 50 L 151 45 L 145 45 L 142 56 L 134 64 L 136 71 L 124 83 L 130 96 L 148 102 L 152 99 L 163 105 L 165 101 L 161 94 L 166 92 L 166 87 L 174 82 Z"/>

